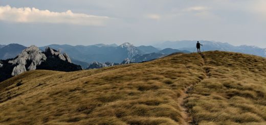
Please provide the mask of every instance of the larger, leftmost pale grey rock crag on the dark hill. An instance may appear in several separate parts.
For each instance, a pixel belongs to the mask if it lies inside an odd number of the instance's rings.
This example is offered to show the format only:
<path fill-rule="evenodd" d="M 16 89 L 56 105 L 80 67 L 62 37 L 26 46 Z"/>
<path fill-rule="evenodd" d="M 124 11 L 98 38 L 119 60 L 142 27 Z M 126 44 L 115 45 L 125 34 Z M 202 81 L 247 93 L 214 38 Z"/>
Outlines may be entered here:
<path fill-rule="evenodd" d="M 16 65 L 12 71 L 12 76 L 16 76 L 27 70 L 35 70 L 36 66 L 46 59 L 46 55 L 42 54 L 37 46 L 32 45 L 24 49 L 14 60 L 10 60 L 8 63 Z"/>

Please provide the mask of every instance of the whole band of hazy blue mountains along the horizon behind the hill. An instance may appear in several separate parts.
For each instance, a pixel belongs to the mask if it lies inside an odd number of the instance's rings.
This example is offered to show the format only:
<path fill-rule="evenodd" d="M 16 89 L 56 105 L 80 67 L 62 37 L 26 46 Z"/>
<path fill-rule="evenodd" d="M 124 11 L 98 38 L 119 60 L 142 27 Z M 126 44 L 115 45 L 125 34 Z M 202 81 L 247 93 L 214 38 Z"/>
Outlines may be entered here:
<path fill-rule="evenodd" d="M 229 51 L 245 54 L 252 54 L 261 57 L 266 57 L 266 49 L 257 46 L 240 45 L 233 46 L 229 43 L 215 41 L 200 41 L 202 51 Z M 51 47 L 60 50 L 61 53 L 67 53 L 74 64 L 81 65 L 82 68 L 87 68 L 92 62 L 112 62 L 121 63 L 127 59 L 130 62 L 143 62 L 152 59 L 161 58 L 172 53 L 191 53 L 196 52 L 196 41 L 166 41 L 153 46 L 134 46 L 130 43 L 117 44 L 95 44 L 95 45 L 58 45 L 51 44 L 39 47 L 45 51 L 46 47 Z M 0 59 L 8 59 L 16 57 L 26 46 L 19 44 L 0 45 Z"/>

